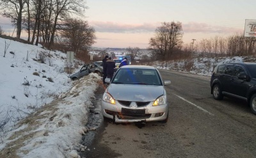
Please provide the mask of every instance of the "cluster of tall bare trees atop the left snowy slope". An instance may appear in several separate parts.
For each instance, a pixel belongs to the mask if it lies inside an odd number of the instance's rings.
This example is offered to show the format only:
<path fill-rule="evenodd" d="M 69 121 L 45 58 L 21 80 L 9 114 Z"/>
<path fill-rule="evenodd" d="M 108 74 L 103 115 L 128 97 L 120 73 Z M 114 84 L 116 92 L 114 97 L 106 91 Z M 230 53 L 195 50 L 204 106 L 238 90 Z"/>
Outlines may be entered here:
<path fill-rule="evenodd" d="M 95 30 L 79 19 L 88 8 L 85 0 L 0 0 L 0 8 L 17 29 L 16 38 L 24 30 L 30 43 L 53 49 L 60 42 L 74 52 L 95 43 Z"/>

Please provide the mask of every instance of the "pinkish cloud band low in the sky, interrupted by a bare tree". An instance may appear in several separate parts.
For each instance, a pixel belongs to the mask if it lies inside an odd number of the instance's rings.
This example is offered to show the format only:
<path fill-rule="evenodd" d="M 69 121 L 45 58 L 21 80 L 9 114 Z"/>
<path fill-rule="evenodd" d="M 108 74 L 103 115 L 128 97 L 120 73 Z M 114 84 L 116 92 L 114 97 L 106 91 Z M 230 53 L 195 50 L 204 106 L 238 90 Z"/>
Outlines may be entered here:
<path fill-rule="evenodd" d="M 90 21 L 97 32 L 105 33 L 153 33 L 161 23 L 124 24 L 118 22 Z M 213 26 L 207 23 L 188 22 L 183 24 L 184 33 L 240 33 L 243 29 Z"/>

